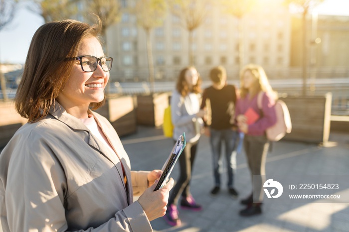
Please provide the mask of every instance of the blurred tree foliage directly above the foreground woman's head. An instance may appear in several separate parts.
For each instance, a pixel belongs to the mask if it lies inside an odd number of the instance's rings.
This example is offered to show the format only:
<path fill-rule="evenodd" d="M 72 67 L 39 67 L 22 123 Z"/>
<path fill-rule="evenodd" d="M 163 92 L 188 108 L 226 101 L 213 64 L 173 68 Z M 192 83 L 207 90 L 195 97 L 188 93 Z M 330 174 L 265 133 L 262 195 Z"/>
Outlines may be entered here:
<path fill-rule="evenodd" d="M 29 10 L 41 15 L 45 22 L 71 18 L 78 12 L 79 0 L 34 0 Z"/>

